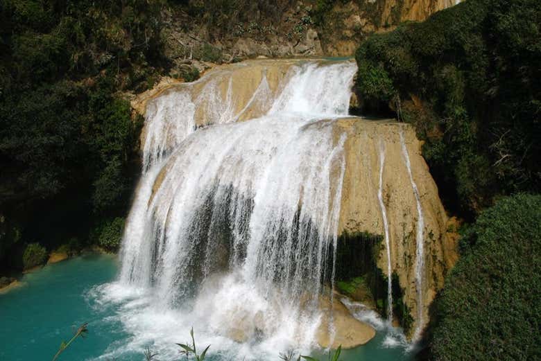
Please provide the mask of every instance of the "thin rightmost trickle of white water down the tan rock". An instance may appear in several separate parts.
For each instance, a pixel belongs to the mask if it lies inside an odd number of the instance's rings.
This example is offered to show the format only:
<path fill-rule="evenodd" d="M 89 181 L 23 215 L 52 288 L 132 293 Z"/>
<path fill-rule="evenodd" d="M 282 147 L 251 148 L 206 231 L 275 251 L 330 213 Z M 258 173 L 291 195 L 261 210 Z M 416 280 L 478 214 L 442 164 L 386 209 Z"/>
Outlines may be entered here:
<path fill-rule="evenodd" d="M 421 207 L 421 198 L 417 188 L 417 184 L 413 180 L 413 175 L 411 175 L 411 164 L 409 161 L 409 154 L 406 148 L 406 142 L 404 141 L 404 133 L 400 131 L 400 143 L 402 145 L 402 155 L 404 157 L 404 162 L 406 168 L 408 169 L 409 180 L 411 182 L 411 188 L 413 188 L 413 194 L 415 195 L 415 202 L 417 204 L 417 225 L 416 225 L 416 235 L 415 235 L 415 288 L 417 290 L 417 326 L 415 326 L 415 331 L 413 333 L 413 341 L 419 340 L 419 337 L 424 328 L 423 320 L 423 302 L 422 302 L 422 281 L 423 281 L 423 270 L 424 270 L 424 238 L 423 238 L 423 229 L 424 229 L 424 218 L 422 216 L 422 207 Z"/>

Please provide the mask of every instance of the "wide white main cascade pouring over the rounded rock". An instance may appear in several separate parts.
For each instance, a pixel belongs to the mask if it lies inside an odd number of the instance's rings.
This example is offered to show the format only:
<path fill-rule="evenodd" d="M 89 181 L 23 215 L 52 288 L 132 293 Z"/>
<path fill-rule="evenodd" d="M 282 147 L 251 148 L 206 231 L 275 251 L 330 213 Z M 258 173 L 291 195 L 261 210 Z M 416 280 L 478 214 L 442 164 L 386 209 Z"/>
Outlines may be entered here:
<path fill-rule="evenodd" d="M 309 347 L 320 297 L 332 297 L 345 172 L 345 134 L 333 125 L 347 116 L 356 70 L 304 62 L 275 92 L 264 73 L 240 112 L 231 79 L 225 96 L 203 77 L 198 94 L 153 100 L 119 285 L 186 329 L 201 325 L 203 340 Z M 266 115 L 238 122 L 249 107 Z M 208 126 L 198 128 L 201 109 Z"/>

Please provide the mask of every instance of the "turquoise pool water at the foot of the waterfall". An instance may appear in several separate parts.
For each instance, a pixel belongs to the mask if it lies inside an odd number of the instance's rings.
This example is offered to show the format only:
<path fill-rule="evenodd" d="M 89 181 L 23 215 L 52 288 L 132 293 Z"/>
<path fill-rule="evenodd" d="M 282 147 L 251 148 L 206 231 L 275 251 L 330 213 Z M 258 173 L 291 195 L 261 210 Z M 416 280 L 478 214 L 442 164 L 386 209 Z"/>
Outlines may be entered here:
<path fill-rule="evenodd" d="M 121 310 L 130 306 L 104 305 L 94 299 L 98 293 L 94 292 L 96 286 L 113 281 L 117 268 L 116 257 L 90 254 L 25 274 L 19 287 L 0 294 L 0 360 L 52 360 L 60 342 L 69 340 L 84 322 L 88 322 L 87 337 L 76 340 L 58 360 L 144 360 L 145 345 L 134 342 L 137 335 L 126 331 L 129 321 L 120 316 Z M 186 327 L 178 325 L 178 328 Z M 185 333 L 188 336 L 189 328 Z M 384 347 L 385 337 L 384 332 L 377 333 L 365 346 L 343 351 L 341 360 L 411 359 L 403 347 Z M 185 338 L 178 342 L 187 341 L 188 337 Z M 209 361 L 232 360 L 225 355 L 213 355 L 212 345 L 208 356 Z M 158 357 L 157 360 L 171 358 Z M 185 358 L 179 355 L 175 360 Z M 280 360 L 278 355 L 274 360 Z"/>

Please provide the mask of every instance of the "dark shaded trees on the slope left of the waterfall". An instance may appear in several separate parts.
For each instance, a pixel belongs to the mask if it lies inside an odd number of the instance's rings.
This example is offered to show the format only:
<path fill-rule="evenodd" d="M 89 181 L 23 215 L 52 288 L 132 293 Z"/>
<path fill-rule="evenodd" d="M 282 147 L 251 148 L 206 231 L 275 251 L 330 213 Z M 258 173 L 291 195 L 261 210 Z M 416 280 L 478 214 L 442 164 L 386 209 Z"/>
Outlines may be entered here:
<path fill-rule="evenodd" d="M 2 266 L 20 267 L 4 256 L 24 242 L 84 242 L 101 218 L 125 215 L 141 118 L 119 92 L 147 89 L 166 67 L 162 5 L 0 2 Z"/>

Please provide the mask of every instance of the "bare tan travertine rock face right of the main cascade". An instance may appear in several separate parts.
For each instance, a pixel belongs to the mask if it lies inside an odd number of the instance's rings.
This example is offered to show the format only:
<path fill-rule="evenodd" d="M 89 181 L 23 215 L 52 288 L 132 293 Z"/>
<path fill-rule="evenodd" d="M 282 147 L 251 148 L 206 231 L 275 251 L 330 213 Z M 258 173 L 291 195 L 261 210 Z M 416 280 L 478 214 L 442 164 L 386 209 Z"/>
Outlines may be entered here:
<path fill-rule="evenodd" d="M 392 272 L 404 288 L 404 301 L 418 325 L 418 294 L 415 284 L 416 227 L 418 210 L 406 167 L 402 139 L 411 163 L 411 175 L 420 195 L 424 225 L 424 267 L 422 267 L 422 326 L 428 321 L 428 307 L 443 287 L 445 274 L 457 259 L 456 234 L 447 233 L 449 221 L 438 197 L 429 168 L 422 158 L 420 141 L 409 125 L 395 121 L 368 121 L 359 118 L 337 122 L 347 132 L 346 168 L 343 181 L 338 234 L 368 231 L 384 234 L 378 200 L 380 157 L 384 156 L 382 195 L 387 213 Z M 402 139 L 401 139 L 402 133 Z M 453 228 L 454 229 L 454 228 Z M 378 267 L 387 274 L 387 255 L 382 247 Z M 415 327 L 413 329 L 415 329 Z"/>

